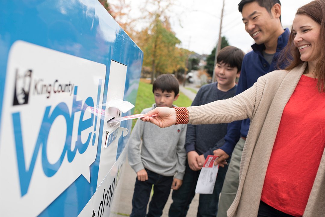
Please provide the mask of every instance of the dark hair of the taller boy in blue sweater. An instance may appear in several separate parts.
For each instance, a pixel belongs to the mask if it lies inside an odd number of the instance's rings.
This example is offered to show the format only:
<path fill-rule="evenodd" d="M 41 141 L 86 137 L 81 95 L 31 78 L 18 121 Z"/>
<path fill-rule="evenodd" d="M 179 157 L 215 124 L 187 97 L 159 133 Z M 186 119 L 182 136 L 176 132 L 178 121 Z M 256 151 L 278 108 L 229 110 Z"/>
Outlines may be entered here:
<path fill-rule="evenodd" d="M 245 53 L 239 48 L 226 46 L 219 51 L 217 55 L 217 63 L 225 63 L 228 64 L 229 67 L 237 67 L 239 72 L 244 56 Z"/>

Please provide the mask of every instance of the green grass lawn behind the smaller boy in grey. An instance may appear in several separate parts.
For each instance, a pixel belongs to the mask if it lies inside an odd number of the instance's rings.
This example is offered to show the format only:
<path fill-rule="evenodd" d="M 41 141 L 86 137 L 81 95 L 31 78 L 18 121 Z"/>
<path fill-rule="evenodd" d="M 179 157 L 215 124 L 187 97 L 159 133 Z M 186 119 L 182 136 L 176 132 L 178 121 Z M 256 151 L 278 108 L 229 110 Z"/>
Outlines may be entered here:
<path fill-rule="evenodd" d="M 138 94 L 136 96 L 136 106 L 134 108 L 134 114 L 139 114 L 143 109 L 149 108 L 155 103 L 155 97 L 152 93 L 152 84 L 141 82 L 139 83 Z M 175 105 L 188 107 L 192 101 L 183 93 L 179 94 L 178 99 L 175 101 Z M 132 122 L 132 129 L 137 119 Z"/>

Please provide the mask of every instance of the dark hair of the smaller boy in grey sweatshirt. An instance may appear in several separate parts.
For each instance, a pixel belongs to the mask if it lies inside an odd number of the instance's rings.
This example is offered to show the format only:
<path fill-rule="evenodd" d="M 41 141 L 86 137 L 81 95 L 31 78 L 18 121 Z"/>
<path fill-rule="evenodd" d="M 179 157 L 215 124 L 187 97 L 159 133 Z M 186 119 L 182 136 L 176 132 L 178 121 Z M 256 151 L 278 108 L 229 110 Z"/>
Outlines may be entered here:
<path fill-rule="evenodd" d="M 179 93 L 179 83 L 172 74 L 159 75 L 156 81 L 152 85 L 152 93 L 155 90 L 167 91 L 171 93 L 174 91 L 175 96 Z"/>

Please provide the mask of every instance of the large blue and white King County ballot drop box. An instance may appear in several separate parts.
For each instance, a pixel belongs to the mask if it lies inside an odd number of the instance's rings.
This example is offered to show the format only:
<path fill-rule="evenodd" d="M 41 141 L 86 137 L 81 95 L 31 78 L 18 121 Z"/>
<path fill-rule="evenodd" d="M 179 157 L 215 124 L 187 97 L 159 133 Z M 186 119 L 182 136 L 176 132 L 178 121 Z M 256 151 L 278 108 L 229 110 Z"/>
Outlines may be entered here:
<path fill-rule="evenodd" d="M 0 4 L 0 215 L 109 216 L 142 51 L 97 0 Z"/>

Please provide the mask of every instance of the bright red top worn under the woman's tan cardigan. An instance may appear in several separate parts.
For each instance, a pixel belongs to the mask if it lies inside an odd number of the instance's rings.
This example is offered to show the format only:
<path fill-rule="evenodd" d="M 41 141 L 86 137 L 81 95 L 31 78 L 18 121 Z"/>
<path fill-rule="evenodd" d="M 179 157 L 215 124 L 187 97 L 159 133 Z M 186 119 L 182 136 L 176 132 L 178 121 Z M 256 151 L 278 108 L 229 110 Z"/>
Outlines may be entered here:
<path fill-rule="evenodd" d="M 325 93 L 303 75 L 283 110 L 261 200 L 293 216 L 304 214 L 325 147 Z"/>

